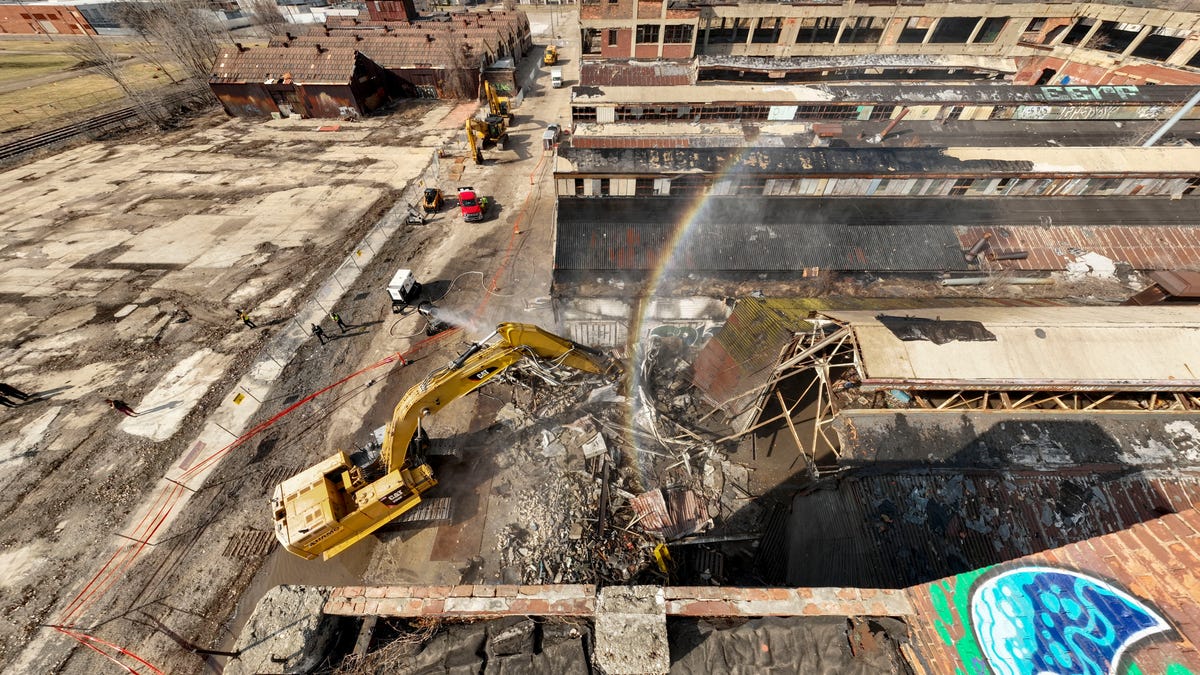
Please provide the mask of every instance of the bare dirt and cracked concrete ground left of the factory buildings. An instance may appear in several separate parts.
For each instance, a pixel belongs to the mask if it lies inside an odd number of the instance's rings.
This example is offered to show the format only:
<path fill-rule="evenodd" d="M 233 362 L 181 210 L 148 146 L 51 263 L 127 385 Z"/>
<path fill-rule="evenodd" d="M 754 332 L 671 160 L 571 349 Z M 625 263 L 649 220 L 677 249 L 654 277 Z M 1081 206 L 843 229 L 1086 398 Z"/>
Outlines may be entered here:
<path fill-rule="evenodd" d="M 548 20 L 533 23 L 538 31 Z M 577 50 L 563 54 L 577 70 Z M 196 673 L 206 662 L 188 649 L 232 643 L 270 585 L 457 581 L 493 545 L 473 525 L 488 508 L 490 462 L 456 470 L 462 482 L 449 489 L 475 498 L 461 500 L 450 525 L 385 533 L 328 563 L 278 550 L 268 496 L 286 476 L 364 444 L 469 336 L 498 321 L 553 328 L 553 190 L 540 136 L 565 117 L 566 90 L 548 88 L 539 55 L 522 64 L 535 80 L 512 148 L 486 153 L 484 166 L 462 162 L 470 107 L 408 102 L 336 132 L 212 113 L 166 136 L 96 142 L 0 174 L 0 371 L 37 394 L 0 418 L 0 462 L 14 478 L 0 495 L 0 668 L 121 671 L 83 646 L 103 640 L 161 671 Z M 270 346 L 295 333 L 318 288 L 358 265 L 360 240 L 439 149 L 440 187 L 473 185 L 494 198 L 493 216 L 467 225 L 451 203 L 402 226 L 332 307 L 319 305 L 352 329 L 326 321 L 329 345 L 304 340 L 281 362 Z M 419 316 L 388 305 L 384 286 L 400 267 L 473 328 L 274 422 L 180 489 L 161 527 L 143 527 L 172 489 L 163 477 L 424 338 Z M 242 325 L 238 309 L 258 328 Z M 142 414 L 122 417 L 109 398 Z M 486 440 L 498 410 L 487 396 L 464 399 L 430 431 Z M 144 543 L 128 539 L 140 532 Z"/>

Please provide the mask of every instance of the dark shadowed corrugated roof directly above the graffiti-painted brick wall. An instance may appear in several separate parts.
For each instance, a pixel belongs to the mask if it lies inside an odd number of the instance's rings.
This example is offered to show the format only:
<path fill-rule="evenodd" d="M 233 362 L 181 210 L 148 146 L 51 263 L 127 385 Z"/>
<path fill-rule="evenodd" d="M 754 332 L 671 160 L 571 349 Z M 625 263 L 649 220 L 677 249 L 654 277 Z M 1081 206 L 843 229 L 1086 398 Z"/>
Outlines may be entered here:
<path fill-rule="evenodd" d="M 1200 506 L 1200 479 L 850 476 L 796 497 L 788 585 L 902 589 Z"/>

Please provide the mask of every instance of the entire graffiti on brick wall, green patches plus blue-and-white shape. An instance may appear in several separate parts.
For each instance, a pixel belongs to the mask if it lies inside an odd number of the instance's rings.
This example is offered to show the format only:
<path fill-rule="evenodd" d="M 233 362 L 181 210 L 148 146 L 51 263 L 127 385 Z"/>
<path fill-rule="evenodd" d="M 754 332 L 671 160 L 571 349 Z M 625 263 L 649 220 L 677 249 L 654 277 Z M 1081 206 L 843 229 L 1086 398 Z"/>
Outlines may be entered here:
<path fill-rule="evenodd" d="M 965 675 L 1140 674 L 1128 650 L 1171 629 L 1128 592 L 1051 567 L 977 569 L 932 584 L 930 601 L 934 628 Z M 1166 674 L 1192 671 L 1172 664 Z"/>

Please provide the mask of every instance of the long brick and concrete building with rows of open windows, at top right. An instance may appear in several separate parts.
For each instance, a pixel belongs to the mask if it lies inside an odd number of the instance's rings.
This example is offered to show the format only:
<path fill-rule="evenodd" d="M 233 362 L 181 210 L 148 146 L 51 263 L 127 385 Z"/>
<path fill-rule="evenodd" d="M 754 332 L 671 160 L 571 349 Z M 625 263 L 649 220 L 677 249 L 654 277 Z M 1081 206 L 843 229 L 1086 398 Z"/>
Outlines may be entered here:
<path fill-rule="evenodd" d="M 1200 84 L 1200 4 L 594 0 L 580 8 L 584 58 L 692 59 L 698 77 L 746 66 L 785 78 L 893 78 L 914 67 L 1015 84 Z M 584 82 L 583 84 L 588 84 Z"/>

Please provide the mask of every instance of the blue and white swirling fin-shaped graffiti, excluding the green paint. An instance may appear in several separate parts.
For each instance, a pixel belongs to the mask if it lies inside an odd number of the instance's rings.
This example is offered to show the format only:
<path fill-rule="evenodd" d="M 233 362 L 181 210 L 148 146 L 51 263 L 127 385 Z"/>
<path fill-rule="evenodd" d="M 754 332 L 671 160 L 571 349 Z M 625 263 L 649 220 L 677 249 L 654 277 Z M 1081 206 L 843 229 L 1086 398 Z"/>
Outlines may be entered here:
<path fill-rule="evenodd" d="M 1020 567 L 976 586 L 971 625 L 997 675 L 1114 675 L 1127 647 L 1170 626 L 1076 572 Z"/>

